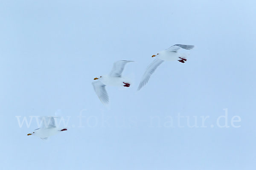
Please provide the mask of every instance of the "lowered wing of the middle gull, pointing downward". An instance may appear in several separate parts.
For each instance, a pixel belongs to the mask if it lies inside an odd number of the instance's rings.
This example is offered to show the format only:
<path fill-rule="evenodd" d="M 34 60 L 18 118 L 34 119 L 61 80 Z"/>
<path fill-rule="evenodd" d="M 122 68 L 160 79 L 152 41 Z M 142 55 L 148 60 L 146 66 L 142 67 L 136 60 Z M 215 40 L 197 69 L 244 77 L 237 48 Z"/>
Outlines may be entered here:
<path fill-rule="evenodd" d="M 109 99 L 108 99 L 108 93 L 105 89 L 105 86 L 101 81 L 97 80 L 92 82 L 93 88 L 97 96 L 99 97 L 100 101 L 103 104 L 108 104 Z"/>

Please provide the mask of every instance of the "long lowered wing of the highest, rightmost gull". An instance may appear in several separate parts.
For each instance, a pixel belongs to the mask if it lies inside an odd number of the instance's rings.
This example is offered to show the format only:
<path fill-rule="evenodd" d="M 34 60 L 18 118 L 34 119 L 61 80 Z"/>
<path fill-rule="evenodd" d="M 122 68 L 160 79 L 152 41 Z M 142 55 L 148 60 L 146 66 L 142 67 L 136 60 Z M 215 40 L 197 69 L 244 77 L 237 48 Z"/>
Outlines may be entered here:
<path fill-rule="evenodd" d="M 138 91 L 147 84 L 149 78 L 154 73 L 154 71 L 157 69 L 157 67 L 163 62 L 162 59 L 155 59 L 150 65 L 148 65 L 148 68 L 146 69 L 145 73 L 143 74 L 143 77 L 140 81 L 140 85 L 138 87 Z"/>

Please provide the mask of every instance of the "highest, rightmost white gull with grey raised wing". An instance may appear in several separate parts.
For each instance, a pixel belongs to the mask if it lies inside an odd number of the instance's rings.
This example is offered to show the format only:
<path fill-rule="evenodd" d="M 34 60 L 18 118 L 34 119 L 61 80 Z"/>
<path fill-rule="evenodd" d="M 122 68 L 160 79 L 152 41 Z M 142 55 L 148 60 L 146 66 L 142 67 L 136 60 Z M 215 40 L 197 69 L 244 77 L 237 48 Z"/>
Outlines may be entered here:
<path fill-rule="evenodd" d="M 167 48 L 163 51 L 159 51 L 156 55 L 152 55 L 152 57 L 157 57 L 150 65 L 148 65 L 148 68 L 146 69 L 145 73 L 143 74 L 143 77 L 140 81 L 140 85 L 138 87 L 138 91 L 147 84 L 149 78 L 154 73 L 154 71 L 157 69 L 157 67 L 162 64 L 164 61 L 179 61 L 179 62 L 186 62 L 186 57 L 180 53 L 178 53 L 178 50 L 180 48 L 190 50 L 194 48 L 194 45 L 182 45 L 182 44 L 175 44 L 172 45 L 170 48 Z"/>

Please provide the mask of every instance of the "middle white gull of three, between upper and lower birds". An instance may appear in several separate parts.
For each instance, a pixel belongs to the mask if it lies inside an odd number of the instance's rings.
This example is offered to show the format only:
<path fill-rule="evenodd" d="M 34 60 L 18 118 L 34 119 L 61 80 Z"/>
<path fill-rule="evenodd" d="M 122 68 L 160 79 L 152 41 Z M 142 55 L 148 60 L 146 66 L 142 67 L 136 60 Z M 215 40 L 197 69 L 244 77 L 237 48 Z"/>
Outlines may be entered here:
<path fill-rule="evenodd" d="M 117 61 L 113 64 L 113 68 L 108 75 L 102 75 L 94 78 L 94 80 L 96 80 L 92 82 L 94 91 L 103 104 L 106 105 L 109 103 L 108 93 L 105 89 L 106 85 L 124 86 L 127 88 L 130 87 L 131 83 L 122 77 L 122 71 L 124 70 L 125 65 L 128 62 L 134 62 L 134 61 L 127 61 L 127 60 Z"/>

